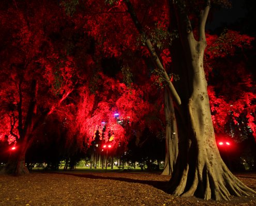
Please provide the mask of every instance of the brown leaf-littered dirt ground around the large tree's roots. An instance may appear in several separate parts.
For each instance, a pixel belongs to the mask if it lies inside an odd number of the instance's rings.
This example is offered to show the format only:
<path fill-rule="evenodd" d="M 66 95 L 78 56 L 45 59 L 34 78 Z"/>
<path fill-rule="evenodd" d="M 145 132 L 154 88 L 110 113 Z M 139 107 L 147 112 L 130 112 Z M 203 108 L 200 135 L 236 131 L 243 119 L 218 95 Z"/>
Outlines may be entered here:
<path fill-rule="evenodd" d="M 235 174 L 256 190 L 256 174 Z M 170 176 L 149 173 L 33 172 L 0 176 L 0 205 L 256 205 L 256 197 L 231 201 L 180 198 L 164 192 Z"/>

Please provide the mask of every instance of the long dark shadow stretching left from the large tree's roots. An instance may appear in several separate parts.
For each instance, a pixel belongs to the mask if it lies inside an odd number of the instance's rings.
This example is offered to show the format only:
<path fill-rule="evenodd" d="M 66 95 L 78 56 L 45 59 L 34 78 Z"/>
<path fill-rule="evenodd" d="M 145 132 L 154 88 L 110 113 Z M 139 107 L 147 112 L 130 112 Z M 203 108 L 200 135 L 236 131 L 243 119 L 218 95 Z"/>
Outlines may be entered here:
<path fill-rule="evenodd" d="M 124 178 L 124 177 L 102 177 L 102 176 L 97 176 L 92 174 L 72 174 L 72 173 L 57 173 L 57 174 L 71 175 L 71 176 L 89 178 L 89 179 L 118 180 L 118 181 L 129 182 L 129 183 L 147 184 L 150 186 L 154 186 L 155 188 L 167 193 L 168 181 L 138 180 L 138 179 Z"/>

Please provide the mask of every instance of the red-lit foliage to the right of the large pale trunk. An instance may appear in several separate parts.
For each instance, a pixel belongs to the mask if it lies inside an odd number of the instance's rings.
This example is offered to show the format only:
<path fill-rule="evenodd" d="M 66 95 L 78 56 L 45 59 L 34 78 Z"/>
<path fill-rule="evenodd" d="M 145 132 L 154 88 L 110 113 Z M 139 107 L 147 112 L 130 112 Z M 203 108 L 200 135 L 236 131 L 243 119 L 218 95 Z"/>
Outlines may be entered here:
<path fill-rule="evenodd" d="M 238 123 L 245 116 L 254 138 L 255 117 L 247 108 L 255 104 L 255 80 L 246 64 L 253 38 L 226 30 L 219 37 L 208 35 L 207 61 L 208 94 L 212 118 L 217 133 L 224 133 L 230 122 Z M 243 56 L 241 55 L 243 54 Z M 238 124 L 239 125 L 239 124 Z"/>

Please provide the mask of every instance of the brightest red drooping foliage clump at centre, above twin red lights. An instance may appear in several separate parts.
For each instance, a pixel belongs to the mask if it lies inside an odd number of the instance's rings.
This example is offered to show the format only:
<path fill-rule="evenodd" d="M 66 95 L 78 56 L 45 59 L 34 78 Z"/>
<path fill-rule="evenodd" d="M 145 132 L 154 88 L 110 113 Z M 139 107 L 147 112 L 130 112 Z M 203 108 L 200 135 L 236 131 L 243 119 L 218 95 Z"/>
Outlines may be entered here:
<path fill-rule="evenodd" d="M 102 73 L 98 87 L 95 94 L 84 87 L 79 95 L 76 125 L 80 135 L 91 145 L 98 130 L 100 140 L 111 141 L 115 147 L 120 143 L 126 145 L 130 138 L 127 128 L 138 124 L 145 127 L 142 119 L 153 111 L 153 107 L 145 101 L 145 94 L 140 89 L 135 90 L 135 85 L 130 89 Z"/>

